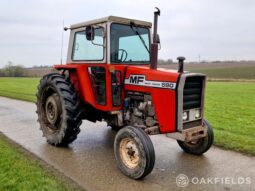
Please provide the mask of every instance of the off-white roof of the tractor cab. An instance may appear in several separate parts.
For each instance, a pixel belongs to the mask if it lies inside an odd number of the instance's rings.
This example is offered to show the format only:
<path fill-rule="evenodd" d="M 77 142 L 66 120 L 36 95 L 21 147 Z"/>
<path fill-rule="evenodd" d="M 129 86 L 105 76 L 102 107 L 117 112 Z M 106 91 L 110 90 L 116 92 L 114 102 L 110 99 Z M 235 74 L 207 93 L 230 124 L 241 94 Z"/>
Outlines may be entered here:
<path fill-rule="evenodd" d="M 91 20 L 91 21 L 73 24 L 70 26 L 70 29 L 76 29 L 76 28 L 93 25 L 93 24 L 101 24 L 101 23 L 105 23 L 105 22 L 116 22 L 116 23 L 121 23 L 121 24 L 130 24 L 131 22 L 133 22 L 136 25 L 145 26 L 145 27 L 149 27 L 149 28 L 151 28 L 151 26 L 152 26 L 151 22 L 147 22 L 147 21 L 128 19 L 128 18 L 116 17 L 116 16 L 108 16 L 108 17 L 103 17 L 100 19 L 95 19 L 95 20 Z"/>

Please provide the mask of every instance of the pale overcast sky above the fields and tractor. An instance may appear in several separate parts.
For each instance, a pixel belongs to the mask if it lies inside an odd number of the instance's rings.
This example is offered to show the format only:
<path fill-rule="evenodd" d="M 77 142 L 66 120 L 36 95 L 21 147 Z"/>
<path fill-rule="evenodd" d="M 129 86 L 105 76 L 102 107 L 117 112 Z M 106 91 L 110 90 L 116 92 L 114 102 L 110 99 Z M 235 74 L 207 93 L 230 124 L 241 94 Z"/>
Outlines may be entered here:
<path fill-rule="evenodd" d="M 108 15 L 153 21 L 155 6 L 160 58 L 255 60 L 254 0 L 9 0 L 0 1 L 0 67 L 60 63 L 63 20 L 66 26 Z M 65 59 L 69 32 L 64 37 Z"/>

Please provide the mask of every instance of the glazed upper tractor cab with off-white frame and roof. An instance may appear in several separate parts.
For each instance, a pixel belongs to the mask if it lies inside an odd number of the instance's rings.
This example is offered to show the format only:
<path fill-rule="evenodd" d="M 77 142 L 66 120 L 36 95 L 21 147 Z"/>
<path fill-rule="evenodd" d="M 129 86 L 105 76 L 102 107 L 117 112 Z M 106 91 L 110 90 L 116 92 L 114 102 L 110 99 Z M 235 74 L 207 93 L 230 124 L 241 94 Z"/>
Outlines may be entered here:
<path fill-rule="evenodd" d="M 67 63 L 149 64 L 151 26 L 115 16 L 71 25 Z"/>

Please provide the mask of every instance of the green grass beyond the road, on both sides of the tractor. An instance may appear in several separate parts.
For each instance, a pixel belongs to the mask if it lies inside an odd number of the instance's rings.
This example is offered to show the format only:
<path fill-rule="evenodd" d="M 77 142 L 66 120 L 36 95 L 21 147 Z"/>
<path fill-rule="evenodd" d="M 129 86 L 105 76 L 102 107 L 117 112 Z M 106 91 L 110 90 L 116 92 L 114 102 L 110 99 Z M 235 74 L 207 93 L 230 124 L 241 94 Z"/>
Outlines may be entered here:
<path fill-rule="evenodd" d="M 0 96 L 35 101 L 38 78 L 0 78 Z M 208 82 L 206 118 L 215 145 L 255 155 L 255 83 Z"/>

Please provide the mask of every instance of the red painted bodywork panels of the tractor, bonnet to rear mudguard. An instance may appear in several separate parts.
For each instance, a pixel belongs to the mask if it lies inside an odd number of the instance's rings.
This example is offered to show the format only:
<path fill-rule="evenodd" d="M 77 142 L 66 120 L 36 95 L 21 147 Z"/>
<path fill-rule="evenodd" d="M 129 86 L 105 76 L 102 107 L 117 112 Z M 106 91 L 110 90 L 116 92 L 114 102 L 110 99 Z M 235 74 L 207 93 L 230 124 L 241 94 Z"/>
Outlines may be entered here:
<path fill-rule="evenodd" d="M 95 101 L 91 81 L 88 74 L 88 67 L 101 66 L 106 71 L 106 105 L 99 105 Z M 132 75 L 145 75 L 146 80 L 151 81 L 166 81 L 177 83 L 179 73 L 171 70 L 156 69 L 152 70 L 148 65 L 133 66 L 133 65 L 112 65 L 112 64 L 67 64 L 55 65 L 58 70 L 68 70 L 70 80 L 74 84 L 76 91 L 81 99 L 101 111 L 122 110 L 122 106 L 114 107 L 112 105 L 112 86 L 111 72 L 121 71 L 122 82 Z M 123 87 L 123 86 L 122 86 Z M 176 93 L 177 90 L 145 87 L 137 85 L 124 84 L 122 88 L 122 100 L 124 100 L 125 91 L 136 91 L 149 93 L 152 96 L 152 101 L 155 107 L 156 116 L 159 122 L 161 133 L 170 133 L 176 131 Z"/>

